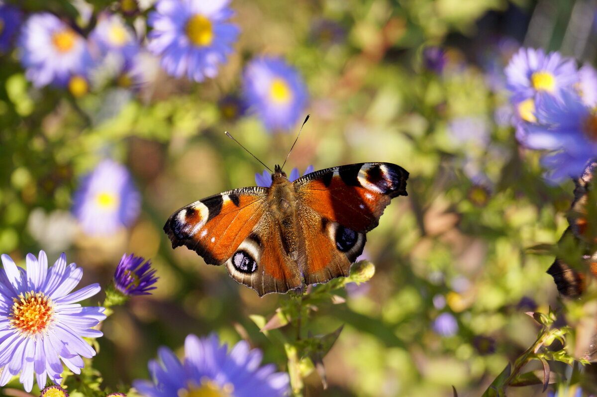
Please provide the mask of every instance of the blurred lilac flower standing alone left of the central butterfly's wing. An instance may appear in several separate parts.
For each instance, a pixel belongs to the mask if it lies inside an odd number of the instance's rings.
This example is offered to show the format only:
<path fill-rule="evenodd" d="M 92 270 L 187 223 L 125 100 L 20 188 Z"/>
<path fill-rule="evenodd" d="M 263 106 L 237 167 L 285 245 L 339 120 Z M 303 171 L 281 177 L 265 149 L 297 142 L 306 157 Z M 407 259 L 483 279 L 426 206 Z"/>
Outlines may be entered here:
<path fill-rule="evenodd" d="M 141 198 L 127 168 L 106 159 L 81 180 L 73 201 L 84 232 L 106 235 L 137 219 Z"/>

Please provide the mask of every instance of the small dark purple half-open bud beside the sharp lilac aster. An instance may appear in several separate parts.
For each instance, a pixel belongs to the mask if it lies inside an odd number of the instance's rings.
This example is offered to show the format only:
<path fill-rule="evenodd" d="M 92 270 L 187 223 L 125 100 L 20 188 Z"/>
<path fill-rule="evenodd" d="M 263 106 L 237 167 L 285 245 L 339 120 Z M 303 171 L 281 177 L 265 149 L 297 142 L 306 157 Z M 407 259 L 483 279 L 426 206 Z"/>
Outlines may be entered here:
<path fill-rule="evenodd" d="M 114 284 L 116 289 L 125 295 L 149 295 L 147 291 L 155 290 L 152 287 L 158 278 L 155 277 L 155 269 L 151 269 L 151 263 L 147 260 L 143 263 L 143 257 L 136 257 L 124 254 L 114 272 Z"/>

